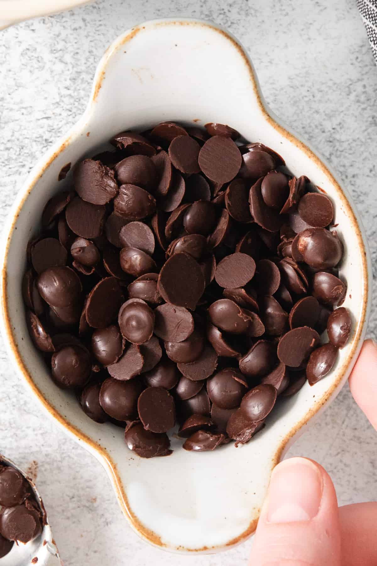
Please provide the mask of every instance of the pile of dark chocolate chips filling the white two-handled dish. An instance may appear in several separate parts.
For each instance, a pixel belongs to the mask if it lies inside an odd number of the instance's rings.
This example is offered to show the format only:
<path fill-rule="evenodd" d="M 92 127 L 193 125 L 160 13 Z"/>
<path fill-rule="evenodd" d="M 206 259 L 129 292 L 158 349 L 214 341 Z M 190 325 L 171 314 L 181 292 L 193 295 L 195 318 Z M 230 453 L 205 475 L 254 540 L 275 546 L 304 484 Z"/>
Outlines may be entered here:
<path fill-rule="evenodd" d="M 32 340 L 140 456 L 169 454 L 176 423 L 187 450 L 244 444 L 349 338 L 348 311 L 332 311 L 346 293 L 332 202 L 219 123 L 110 143 L 76 164 L 29 243 Z"/>

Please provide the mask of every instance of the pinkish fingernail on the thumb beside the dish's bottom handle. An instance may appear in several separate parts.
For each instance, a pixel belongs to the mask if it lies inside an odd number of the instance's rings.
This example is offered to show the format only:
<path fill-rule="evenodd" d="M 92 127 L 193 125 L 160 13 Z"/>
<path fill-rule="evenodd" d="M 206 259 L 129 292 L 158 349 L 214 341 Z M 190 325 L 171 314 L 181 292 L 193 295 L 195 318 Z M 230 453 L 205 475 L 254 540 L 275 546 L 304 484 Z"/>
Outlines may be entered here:
<path fill-rule="evenodd" d="M 322 488 L 322 475 L 310 460 L 291 458 L 281 462 L 271 477 L 267 521 L 310 521 L 319 511 Z"/>

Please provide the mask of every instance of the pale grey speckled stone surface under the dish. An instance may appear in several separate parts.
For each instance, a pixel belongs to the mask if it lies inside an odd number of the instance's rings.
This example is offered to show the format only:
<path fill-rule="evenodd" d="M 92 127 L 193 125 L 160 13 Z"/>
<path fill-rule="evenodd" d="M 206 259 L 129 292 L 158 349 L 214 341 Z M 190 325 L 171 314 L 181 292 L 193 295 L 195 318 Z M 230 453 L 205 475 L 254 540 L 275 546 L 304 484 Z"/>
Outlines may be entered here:
<path fill-rule="evenodd" d="M 142 20 L 172 15 L 214 20 L 243 42 L 268 104 L 352 191 L 376 269 L 377 67 L 356 0 L 98 0 L 0 32 L 0 221 L 37 158 L 83 112 L 107 45 Z M 374 337 L 376 304 L 369 327 Z M 340 504 L 368 501 L 376 498 L 376 440 L 345 387 L 289 455 L 324 465 Z M 105 471 L 41 417 L 2 344 L 0 451 L 37 472 L 64 566 L 247 563 L 250 541 L 225 554 L 194 557 L 166 554 L 138 539 Z"/>

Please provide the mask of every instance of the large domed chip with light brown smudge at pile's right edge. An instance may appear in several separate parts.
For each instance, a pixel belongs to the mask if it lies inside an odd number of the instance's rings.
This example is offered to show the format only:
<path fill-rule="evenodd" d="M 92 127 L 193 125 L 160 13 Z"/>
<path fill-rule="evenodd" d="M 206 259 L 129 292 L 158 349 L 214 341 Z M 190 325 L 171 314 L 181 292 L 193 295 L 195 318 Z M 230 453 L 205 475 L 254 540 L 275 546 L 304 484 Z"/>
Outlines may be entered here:
<path fill-rule="evenodd" d="M 308 228 L 298 235 L 298 252 L 305 263 L 317 269 L 335 267 L 343 255 L 343 244 L 336 232 L 324 228 Z"/>

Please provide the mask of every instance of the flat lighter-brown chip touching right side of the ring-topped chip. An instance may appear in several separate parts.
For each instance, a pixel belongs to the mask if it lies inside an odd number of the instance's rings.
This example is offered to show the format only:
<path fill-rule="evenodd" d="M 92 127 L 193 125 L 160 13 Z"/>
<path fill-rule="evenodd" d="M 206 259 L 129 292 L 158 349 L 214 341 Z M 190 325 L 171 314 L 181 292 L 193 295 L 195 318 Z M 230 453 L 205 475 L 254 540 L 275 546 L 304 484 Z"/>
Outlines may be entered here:
<path fill-rule="evenodd" d="M 182 342 L 194 331 L 194 319 L 187 308 L 166 303 L 155 308 L 154 314 L 154 333 L 166 342 Z"/>

